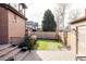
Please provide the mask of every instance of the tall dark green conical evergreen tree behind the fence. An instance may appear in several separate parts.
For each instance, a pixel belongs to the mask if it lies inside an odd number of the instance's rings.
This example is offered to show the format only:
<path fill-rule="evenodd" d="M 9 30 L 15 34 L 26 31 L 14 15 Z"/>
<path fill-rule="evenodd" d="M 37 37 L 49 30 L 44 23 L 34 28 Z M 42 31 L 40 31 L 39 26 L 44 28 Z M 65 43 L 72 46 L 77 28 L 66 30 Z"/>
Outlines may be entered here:
<path fill-rule="evenodd" d="M 47 10 L 44 14 L 42 30 L 44 31 L 54 31 L 56 28 L 57 28 L 57 24 L 54 21 L 54 16 L 50 10 Z"/>

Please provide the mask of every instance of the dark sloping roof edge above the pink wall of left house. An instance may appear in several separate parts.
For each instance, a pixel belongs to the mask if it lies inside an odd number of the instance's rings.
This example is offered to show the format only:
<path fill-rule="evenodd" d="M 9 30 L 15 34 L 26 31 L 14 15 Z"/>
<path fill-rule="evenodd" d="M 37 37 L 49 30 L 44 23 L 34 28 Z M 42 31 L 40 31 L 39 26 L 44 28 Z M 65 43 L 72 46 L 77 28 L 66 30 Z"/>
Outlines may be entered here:
<path fill-rule="evenodd" d="M 0 7 L 3 7 L 3 8 L 5 8 L 5 9 L 8 9 L 8 10 L 12 11 L 12 12 L 15 13 L 16 15 L 19 15 L 19 16 L 21 16 L 22 18 L 24 18 L 24 20 L 27 21 L 27 18 L 26 18 L 23 14 L 21 14 L 19 11 L 16 11 L 16 10 L 15 10 L 14 8 L 12 8 L 11 5 L 5 4 L 5 3 L 0 3 Z"/>

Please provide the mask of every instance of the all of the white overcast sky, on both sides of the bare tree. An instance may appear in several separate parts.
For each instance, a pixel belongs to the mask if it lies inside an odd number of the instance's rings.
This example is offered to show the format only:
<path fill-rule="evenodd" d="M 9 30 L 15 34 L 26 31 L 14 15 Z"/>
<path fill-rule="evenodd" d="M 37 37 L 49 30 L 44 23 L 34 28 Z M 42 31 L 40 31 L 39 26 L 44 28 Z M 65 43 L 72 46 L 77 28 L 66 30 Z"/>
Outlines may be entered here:
<path fill-rule="evenodd" d="M 66 10 L 66 12 L 70 12 L 71 10 L 73 9 L 77 9 L 79 10 L 81 12 L 81 16 L 84 16 L 85 15 L 85 7 L 86 4 L 85 3 L 70 3 L 71 7 Z M 56 9 L 57 9 L 57 3 L 45 3 L 44 1 L 40 1 L 39 3 L 26 3 L 27 5 L 27 10 L 26 10 L 26 16 L 28 18 L 28 22 L 29 21 L 33 21 L 33 22 L 37 22 L 39 25 L 41 25 L 41 21 L 42 21 L 42 17 L 44 17 L 44 13 L 46 10 L 50 9 L 52 11 L 52 13 L 54 14 L 54 17 L 56 17 Z M 66 18 L 65 18 L 65 25 L 67 25 L 67 14 L 66 14 Z"/>

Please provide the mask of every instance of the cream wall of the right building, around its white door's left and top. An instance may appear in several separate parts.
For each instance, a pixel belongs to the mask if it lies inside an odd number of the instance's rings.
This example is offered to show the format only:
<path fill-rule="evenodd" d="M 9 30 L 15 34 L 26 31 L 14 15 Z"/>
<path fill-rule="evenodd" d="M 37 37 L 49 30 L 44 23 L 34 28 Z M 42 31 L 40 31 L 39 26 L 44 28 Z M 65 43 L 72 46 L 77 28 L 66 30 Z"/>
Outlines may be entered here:
<path fill-rule="evenodd" d="M 67 43 L 69 43 L 69 46 L 71 46 L 71 51 L 73 52 L 73 53 L 75 53 L 75 54 L 77 54 L 77 43 L 78 43 L 78 41 L 77 41 L 77 27 L 78 26 L 84 26 L 84 25 L 86 25 L 86 21 L 83 21 L 83 22 L 79 22 L 79 23 L 76 23 L 76 24 L 72 24 L 71 25 L 71 31 L 69 33 L 69 40 L 67 40 Z M 73 30 L 73 29 L 75 29 L 75 30 Z"/>

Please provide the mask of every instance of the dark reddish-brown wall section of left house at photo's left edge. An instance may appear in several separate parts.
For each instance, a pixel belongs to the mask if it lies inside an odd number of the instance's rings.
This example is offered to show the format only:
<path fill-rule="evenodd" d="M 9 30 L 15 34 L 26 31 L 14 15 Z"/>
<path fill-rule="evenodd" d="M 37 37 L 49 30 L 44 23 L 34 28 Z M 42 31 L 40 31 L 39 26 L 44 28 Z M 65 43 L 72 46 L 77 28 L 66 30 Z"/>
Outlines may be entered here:
<path fill-rule="evenodd" d="M 0 7 L 0 42 L 8 42 L 8 12 Z"/>

